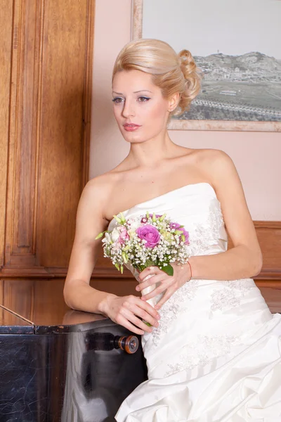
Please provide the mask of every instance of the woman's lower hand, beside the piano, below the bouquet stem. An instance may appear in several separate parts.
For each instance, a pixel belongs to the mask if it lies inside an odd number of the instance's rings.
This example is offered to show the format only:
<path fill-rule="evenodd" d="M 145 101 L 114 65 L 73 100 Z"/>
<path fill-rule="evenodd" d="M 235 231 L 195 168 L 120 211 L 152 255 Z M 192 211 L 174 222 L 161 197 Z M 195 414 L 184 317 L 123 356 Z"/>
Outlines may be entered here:
<path fill-rule="evenodd" d="M 157 319 L 160 318 L 158 312 L 149 303 L 133 295 L 121 298 L 119 296 L 111 297 L 106 314 L 112 321 L 136 334 L 144 334 L 144 331 L 151 333 L 152 327 L 143 321 L 157 327 L 159 325 Z"/>

